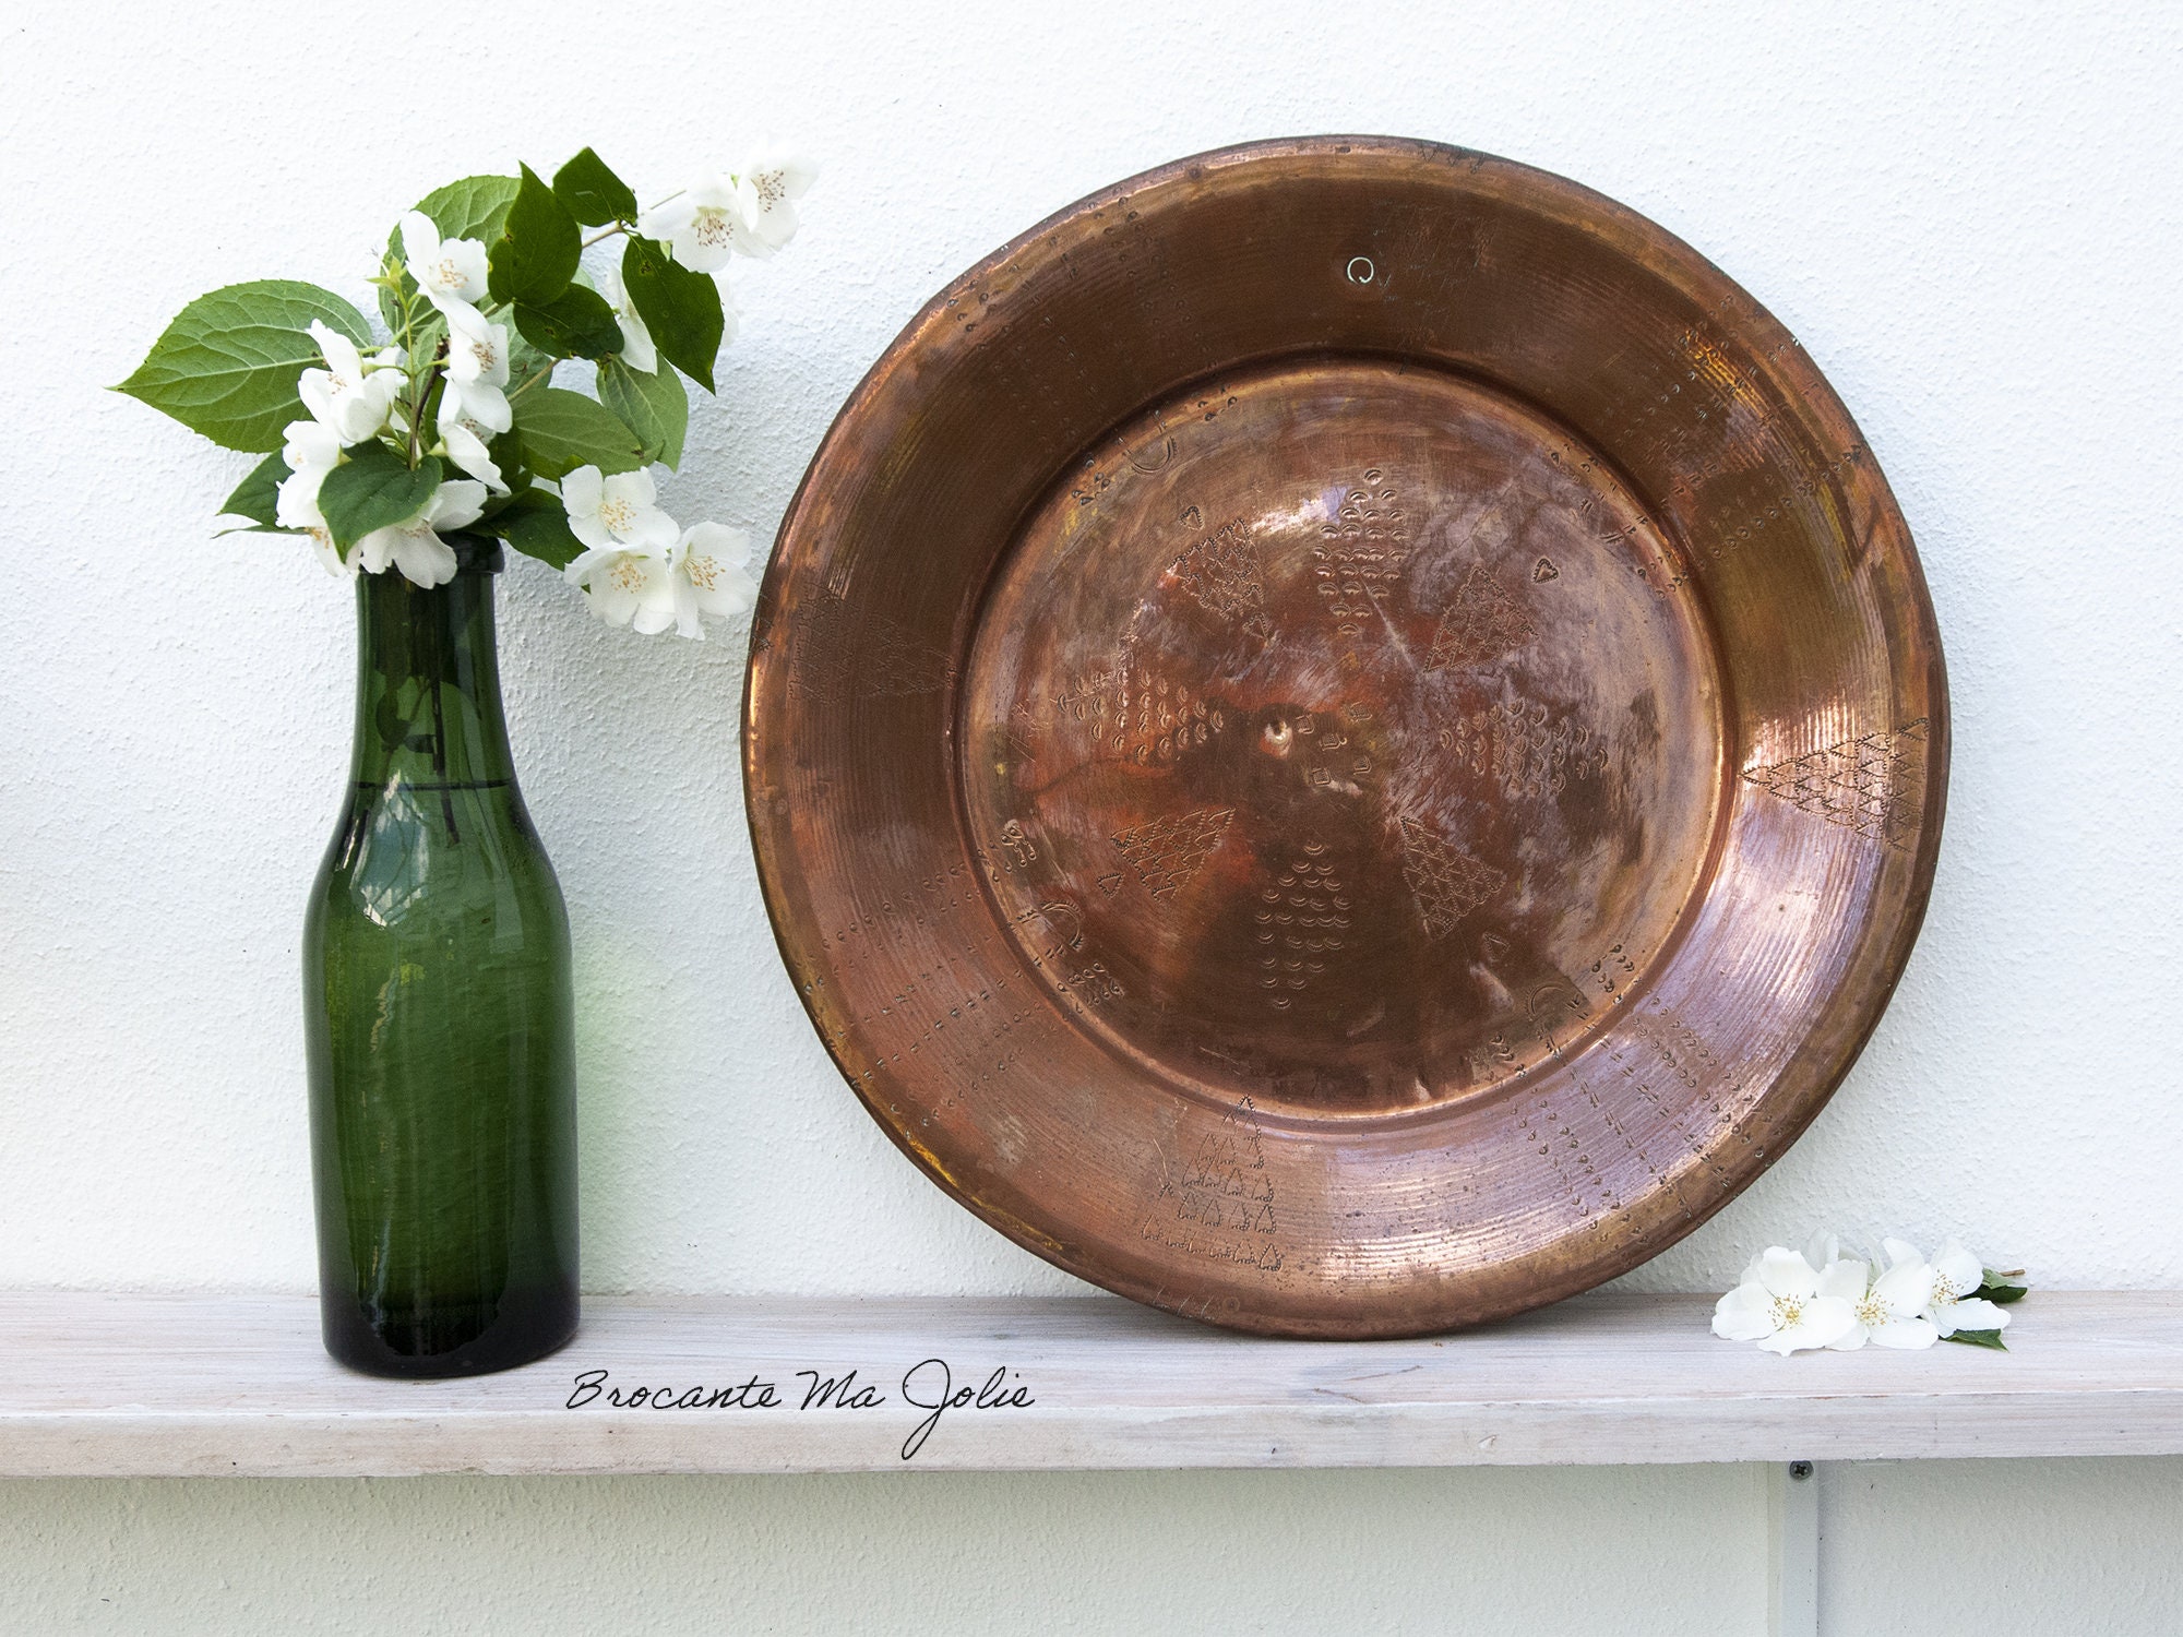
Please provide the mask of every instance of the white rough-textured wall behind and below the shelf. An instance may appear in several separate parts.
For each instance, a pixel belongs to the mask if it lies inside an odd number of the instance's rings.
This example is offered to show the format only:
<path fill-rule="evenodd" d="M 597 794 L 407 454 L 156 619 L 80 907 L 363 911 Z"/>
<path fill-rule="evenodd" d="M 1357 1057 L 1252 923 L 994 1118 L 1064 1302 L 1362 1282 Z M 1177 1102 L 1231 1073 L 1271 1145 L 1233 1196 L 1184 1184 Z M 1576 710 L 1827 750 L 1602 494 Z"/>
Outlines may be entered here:
<path fill-rule="evenodd" d="M 1960 1231 L 2050 1283 L 2183 1281 L 2179 94 L 2179 13 L 2126 0 L 24 7 L 0 33 L 0 1283 L 312 1277 L 297 934 L 347 755 L 349 607 L 301 548 L 210 541 L 247 461 L 98 386 L 216 284 L 354 290 L 458 170 L 592 142 L 666 190 L 766 131 L 830 168 L 803 238 L 744 277 L 723 402 L 666 485 L 762 537 L 926 295 L 1183 153 L 1460 142 L 1720 262 L 1895 482 L 1956 766 L 1932 917 L 1864 1061 L 1633 1281 L 1714 1288 L 1818 1220 Z M 530 563 L 504 611 L 576 923 L 589 1283 L 1067 1288 L 880 1139 L 788 993 L 742 829 L 738 644 L 605 631 Z M 11 1484 L 0 1604 L 33 1630 L 223 1630 L 303 1593 L 391 1598 L 452 1630 L 415 1587 L 487 1561 L 539 1630 L 637 1589 L 657 1630 L 736 1600 L 782 1630 L 858 1609 L 1749 1630 L 1755 1493 L 1729 1469 Z M 1832 1630 L 2157 1633 L 2183 1591 L 2159 1545 L 2179 1462 L 1836 1469 L 1825 1513 Z M 1967 1574 L 2002 1589 L 1936 1591 Z"/>

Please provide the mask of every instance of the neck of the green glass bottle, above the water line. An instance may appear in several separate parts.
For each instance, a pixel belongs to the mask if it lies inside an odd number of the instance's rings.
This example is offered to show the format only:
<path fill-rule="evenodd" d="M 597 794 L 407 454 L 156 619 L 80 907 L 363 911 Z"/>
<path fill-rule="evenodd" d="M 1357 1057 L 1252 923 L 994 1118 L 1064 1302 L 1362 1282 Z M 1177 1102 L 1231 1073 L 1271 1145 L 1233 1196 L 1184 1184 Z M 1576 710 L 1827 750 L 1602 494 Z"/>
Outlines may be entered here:
<path fill-rule="evenodd" d="M 360 786 L 513 784 L 500 714 L 493 574 L 500 541 L 456 537 L 456 574 L 410 585 L 399 570 L 356 576 L 356 753 Z"/>

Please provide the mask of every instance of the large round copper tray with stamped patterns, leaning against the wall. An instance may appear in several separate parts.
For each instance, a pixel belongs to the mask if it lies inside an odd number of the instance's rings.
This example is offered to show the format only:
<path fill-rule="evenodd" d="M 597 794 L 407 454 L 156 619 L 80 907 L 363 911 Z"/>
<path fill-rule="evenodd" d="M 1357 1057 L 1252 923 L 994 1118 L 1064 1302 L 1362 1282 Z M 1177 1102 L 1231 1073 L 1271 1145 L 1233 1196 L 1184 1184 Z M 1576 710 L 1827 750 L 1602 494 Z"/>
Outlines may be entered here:
<path fill-rule="evenodd" d="M 1818 1113 L 1947 685 L 1794 338 L 1559 177 L 1273 142 L 937 297 L 782 526 L 744 712 L 843 1074 L 1050 1262 L 1292 1336 L 1609 1279 Z"/>

